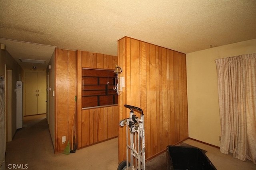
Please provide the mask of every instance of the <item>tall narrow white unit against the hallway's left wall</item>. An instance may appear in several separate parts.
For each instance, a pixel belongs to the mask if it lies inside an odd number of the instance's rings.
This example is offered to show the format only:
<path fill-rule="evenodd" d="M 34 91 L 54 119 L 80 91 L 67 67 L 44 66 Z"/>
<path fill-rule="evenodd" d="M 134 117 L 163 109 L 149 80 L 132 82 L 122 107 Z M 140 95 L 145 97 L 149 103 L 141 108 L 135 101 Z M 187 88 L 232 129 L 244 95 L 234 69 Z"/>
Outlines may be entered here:
<path fill-rule="evenodd" d="M 23 125 L 23 85 L 22 81 L 16 82 L 16 128 L 20 129 Z"/>

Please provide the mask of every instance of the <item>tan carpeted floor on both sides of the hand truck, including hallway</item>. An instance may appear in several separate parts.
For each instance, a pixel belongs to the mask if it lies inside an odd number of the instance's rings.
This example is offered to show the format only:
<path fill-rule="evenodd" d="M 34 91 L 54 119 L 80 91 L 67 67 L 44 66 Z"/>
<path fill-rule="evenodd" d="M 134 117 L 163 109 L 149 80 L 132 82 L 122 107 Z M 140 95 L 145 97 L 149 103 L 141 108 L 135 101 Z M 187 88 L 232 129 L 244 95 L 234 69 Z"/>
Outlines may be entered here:
<path fill-rule="evenodd" d="M 180 145 L 206 150 L 206 156 L 218 170 L 256 170 L 251 161 L 234 159 L 209 145 L 190 139 Z M 54 154 L 46 115 L 24 117 L 24 127 L 17 130 L 13 141 L 6 143 L 6 147 L 6 170 L 14 169 L 13 165 L 28 170 L 116 170 L 118 167 L 118 138 L 69 155 Z M 146 162 L 146 170 L 166 169 L 166 152 Z"/>

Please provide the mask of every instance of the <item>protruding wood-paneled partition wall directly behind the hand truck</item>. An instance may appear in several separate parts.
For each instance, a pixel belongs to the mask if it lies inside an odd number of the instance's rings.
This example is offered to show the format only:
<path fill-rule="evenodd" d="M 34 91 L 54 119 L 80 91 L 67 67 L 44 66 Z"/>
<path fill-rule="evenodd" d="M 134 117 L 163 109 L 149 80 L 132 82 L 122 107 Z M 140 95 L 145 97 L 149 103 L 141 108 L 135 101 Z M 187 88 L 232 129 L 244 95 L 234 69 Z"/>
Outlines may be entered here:
<path fill-rule="evenodd" d="M 143 110 L 146 158 L 188 138 L 186 55 L 124 37 L 118 41 L 118 65 L 123 69 L 119 76 L 125 77 L 119 120 L 129 117 L 124 104 Z M 119 128 L 118 141 L 121 162 L 126 159 L 125 128 Z"/>

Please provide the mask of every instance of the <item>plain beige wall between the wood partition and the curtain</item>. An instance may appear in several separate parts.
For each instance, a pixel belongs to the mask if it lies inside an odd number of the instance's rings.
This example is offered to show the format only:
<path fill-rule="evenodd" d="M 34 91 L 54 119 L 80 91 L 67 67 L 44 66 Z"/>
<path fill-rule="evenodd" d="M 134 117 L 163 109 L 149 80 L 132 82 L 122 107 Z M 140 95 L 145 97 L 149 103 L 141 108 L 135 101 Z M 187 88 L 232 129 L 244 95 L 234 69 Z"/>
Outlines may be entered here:
<path fill-rule="evenodd" d="M 216 59 L 256 53 L 256 39 L 186 54 L 188 135 L 220 146 Z"/>

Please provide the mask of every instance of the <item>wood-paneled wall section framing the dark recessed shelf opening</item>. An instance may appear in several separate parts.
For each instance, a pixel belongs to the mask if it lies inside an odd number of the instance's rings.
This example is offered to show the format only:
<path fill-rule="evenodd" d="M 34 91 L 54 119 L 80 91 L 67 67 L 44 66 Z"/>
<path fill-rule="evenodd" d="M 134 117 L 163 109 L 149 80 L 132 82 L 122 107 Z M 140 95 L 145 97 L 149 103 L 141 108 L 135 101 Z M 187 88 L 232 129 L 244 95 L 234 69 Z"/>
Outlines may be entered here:
<path fill-rule="evenodd" d="M 118 106 L 82 109 L 82 68 L 115 69 L 117 56 L 77 51 L 78 148 L 118 136 Z"/>

